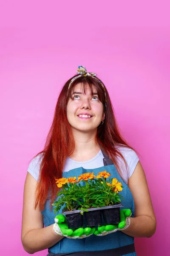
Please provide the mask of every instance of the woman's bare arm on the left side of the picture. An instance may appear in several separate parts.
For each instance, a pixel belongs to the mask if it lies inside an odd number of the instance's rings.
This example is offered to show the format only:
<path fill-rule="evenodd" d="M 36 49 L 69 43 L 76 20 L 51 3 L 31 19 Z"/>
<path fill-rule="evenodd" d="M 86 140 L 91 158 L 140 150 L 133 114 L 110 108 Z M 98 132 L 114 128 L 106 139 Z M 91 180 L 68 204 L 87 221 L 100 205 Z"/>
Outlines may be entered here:
<path fill-rule="evenodd" d="M 64 237 L 54 232 L 53 225 L 44 227 L 41 212 L 34 209 L 36 185 L 37 181 L 30 173 L 27 173 L 24 186 L 21 240 L 24 250 L 30 254 L 51 247 Z"/>

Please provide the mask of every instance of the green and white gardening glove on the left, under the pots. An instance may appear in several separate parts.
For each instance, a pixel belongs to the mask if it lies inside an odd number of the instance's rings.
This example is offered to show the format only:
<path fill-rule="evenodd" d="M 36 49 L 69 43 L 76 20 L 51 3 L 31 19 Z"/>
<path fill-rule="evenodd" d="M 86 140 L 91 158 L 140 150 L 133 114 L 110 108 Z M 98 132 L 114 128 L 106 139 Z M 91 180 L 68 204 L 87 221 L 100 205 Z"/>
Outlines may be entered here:
<path fill-rule="evenodd" d="M 68 228 L 67 221 L 64 215 L 59 214 L 55 217 L 55 223 L 54 223 L 54 232 L 57 233 L 57 235 L 65 236 L 67 238 L 71 239 L 82 239 L 86 238 L 88 236 L 91 236 L 94 234 L 94 231 L 96 230 L 95 227 L 90 228 L 78 228 L 76 230 L 72 230 Z"/>

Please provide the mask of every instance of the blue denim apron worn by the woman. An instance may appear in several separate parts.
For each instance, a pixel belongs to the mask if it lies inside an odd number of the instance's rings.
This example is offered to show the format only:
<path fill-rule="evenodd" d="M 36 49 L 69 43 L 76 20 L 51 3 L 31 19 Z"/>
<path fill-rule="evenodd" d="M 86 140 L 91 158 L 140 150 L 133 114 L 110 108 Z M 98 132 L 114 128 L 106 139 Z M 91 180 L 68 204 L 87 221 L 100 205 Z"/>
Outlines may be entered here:
<path fill-rule="evenodd" d="M 113 162 L 108 158 L 104 152 L 103 163 L 104 166 L 96 169 L 84 169 L 82 167 L 72 169 L 68 172 L 63 172 L 62 177 L 78 177 L 86 172 L 94 172 L 94 175 L 97 175 L 99 172 L 107 171 L 111 174 L 110 178 L 117 178 L 119 182 L 122 183 L 123 190 L 121 191 L 122 204 L 124 207 L 121 209 L 130 209 L 132 216 L 134 217 L 135 206 L 133 201 L 133 196 L 130 192 L 127 184 L 122 180 L 119 173 L 117 172 Z M 51 224 L 54 224 L 54 210 L 51 211 L 50 200 L 47 200 L 45 203 L 45 208 L 41 212 L 43 215 L 43 221 L 45 227 L 48 227 Z M 62 209 L 59 210 L 57 214 L 62 214 Z M 114 233 L 108 234 L 107 236 L 95 236 L 91 235 L 84 239 L 68 239 L 63 238 L 57 244 L 54 244 L 52 247 L 48 248 L 48 256 L 136 256 L 135 247 L 134 247 L 134 238 L 127 236 L 121 231 L 116 231 Z"/>

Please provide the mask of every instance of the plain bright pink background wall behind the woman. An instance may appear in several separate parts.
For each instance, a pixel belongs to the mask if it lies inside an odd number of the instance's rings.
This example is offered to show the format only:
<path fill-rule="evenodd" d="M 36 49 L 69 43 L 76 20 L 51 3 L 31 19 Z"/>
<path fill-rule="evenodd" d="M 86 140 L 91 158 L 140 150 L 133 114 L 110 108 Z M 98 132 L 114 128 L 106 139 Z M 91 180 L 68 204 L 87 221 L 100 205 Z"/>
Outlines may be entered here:
<path fill-rule="evenodd" d="M 135 239 L 137 254 L 169 255 L 170 6 L 2 2 L 0 255 L 27 255 L 20 233 L 28 162 L 42 150 L 59 91 L 78 65 L 106 84 L 122 134 L 139 152 L 147 176 L 157 230 L 150 239 Z"/>

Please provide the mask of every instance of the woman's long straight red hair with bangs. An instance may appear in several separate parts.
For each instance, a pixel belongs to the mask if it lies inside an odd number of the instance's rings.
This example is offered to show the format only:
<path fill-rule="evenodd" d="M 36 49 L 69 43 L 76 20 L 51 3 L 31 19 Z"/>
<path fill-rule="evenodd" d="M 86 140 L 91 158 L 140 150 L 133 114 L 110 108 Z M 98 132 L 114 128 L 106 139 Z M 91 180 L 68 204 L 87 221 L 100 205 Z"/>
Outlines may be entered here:
<path fill-rule="evenodd" d="M 43 151 L 37 154 L 41 154 L 42 160 L 36 188 L 35 209 L 38 206 L 40 210 L 43 210 L 45 202 L 49 196 L 51 198 L 51 204 L 54 202 L 58 189 L 55 179 L 62 177 L 65 160 L 74 152 L 74 137 L 67 119 L 66 106 L 77 83 L 81 83 L 84 93 L 87 84 L 90 87 L 91 93 L 93 93 L 93 88 L 97 91 L 98 98 L 102 102 L 105 111 L 105 120 L 103 125 L 99 125 L 97 128 L 96 143 L 98 143 L 100 148 L 113 160 L 113 163 L 122 178 L 123 175 L 116 162 L 116 157 L 122 157 L 126 167 L 127 163 L 122 154 L 116 149 L 116 145 L 123 144 L 124 146 L 133 149 L 128 145 L 119 131 L 108 91 L 105 88 L 104 92 L 100 81 L 93 77 L 81 76 L 75 79 L 68 89 L 71 79 L 65 83 L 59 94 L 54 112 L 54 119 L 45 142 L 45 147 Z"/>

